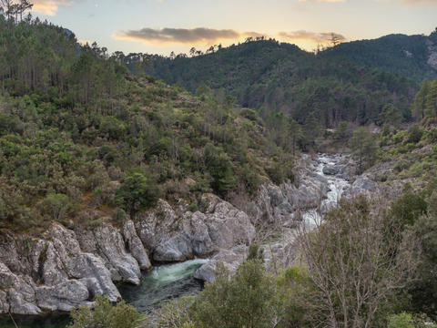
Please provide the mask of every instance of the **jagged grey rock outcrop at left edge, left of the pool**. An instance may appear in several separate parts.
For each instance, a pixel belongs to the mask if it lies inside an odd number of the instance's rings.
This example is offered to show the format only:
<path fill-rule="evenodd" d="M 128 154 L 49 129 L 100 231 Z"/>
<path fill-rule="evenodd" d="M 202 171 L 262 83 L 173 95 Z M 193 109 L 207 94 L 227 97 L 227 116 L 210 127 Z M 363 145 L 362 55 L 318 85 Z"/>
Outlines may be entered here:
<path fill-rule="evenodd" d="M 120 298 L 104 261 L 82 251 L 74 231 L 54 224 L 44 237 L 2 233 L 0 313 L 70 311 L 97 294 Z"/>

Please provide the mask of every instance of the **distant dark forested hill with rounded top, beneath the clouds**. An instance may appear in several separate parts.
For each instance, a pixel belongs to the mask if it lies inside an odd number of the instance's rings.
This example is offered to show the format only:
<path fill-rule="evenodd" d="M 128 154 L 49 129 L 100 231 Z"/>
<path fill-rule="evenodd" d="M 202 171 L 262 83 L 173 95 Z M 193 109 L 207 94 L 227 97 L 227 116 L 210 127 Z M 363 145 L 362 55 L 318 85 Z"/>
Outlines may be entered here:
<path fill-rule="evenodd" d="M 410 74 L 345 61 L 342 56 L 350 55 L 334 55 L 337 48 L 342 49 L 336 46 L 316 56 L 290 44 L 256 40 L 208 55 L 151 56 L 145 69 L 169 84 L 192 92 L 206 85 L 234 97 L 240 106 L 257 108 L 263 117 L 283 112 L 301 124 L 311 116 L 328 128 L 341 120 L 370 123 L 387 103 L 403 118 L 411 117 L 409 103 L 417 85 Z M 127 62 L 133 68 L 135 60 L 129 57 Z M 408 69 L 414 70 L 414 65 Z"/>

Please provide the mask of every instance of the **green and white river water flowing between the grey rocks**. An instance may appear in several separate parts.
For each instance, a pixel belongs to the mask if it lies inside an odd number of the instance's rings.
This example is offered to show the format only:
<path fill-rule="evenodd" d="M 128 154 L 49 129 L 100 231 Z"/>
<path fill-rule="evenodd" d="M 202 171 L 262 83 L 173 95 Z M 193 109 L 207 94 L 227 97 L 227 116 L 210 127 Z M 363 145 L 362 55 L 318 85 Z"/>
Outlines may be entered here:
<path fill-rule="evenodd" d="M 323 173 L 326 165 L 336 165 L 340 159 L 339 155 L 320 154 L 311 166 L 316 174 L 328 180 L 329 192 L 322 206 L 335 205 L 349 185 L 345 179 Z M 303 219 L 308 224 L 314 225 L 315 220 L 320 220 L 320 215 L 316 210 L 309 210 L 303 213 Z M 158 265 L 152 271 L 143 273 L 140 286 L 119 284 L 117 287 L 128 304 L 135 306 L 140 313 L 150 313 L 164 302 L 200 292 L 203 282 L 194 279 L 193 275 L 207 261 L 197 259 L 183 263 Z M 20 328 L 65 328 L 69 323 L 67 313 L 50 313 L 45 316 L 15 315 L 14 317 Z M 0 316 L 0 328 L 14 327 L 10 318 Z"/>

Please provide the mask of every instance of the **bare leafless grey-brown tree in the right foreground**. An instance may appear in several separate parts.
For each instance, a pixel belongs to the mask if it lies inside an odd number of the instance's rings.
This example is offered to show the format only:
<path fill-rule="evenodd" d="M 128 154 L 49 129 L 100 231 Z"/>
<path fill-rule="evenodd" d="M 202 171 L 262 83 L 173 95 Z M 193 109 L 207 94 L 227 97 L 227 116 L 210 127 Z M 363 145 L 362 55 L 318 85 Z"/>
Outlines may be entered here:
<path fill-rule="evenodd" d="M 302 227 L 300 251 L 313 292 L 314 325 L 371 327 L 381 304 L 414 278 L 419 241 L 381 199 L 340 200 L 314 233 Z"/>

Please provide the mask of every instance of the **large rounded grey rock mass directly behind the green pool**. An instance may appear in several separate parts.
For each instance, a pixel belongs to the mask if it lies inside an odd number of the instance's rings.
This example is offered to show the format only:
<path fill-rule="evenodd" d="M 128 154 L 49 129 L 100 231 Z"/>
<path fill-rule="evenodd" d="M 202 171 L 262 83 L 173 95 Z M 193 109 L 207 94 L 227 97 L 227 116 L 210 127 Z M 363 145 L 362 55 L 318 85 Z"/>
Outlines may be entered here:
<path fill-rule="evenodd" d="M 137 215 L 137 234 L 152 252 L 153 260 L 186 261 L 254 239 L 255 227 L 249 216 L 229 202 L 205 194 L 200 208 L 193 213 L 159 200 L 157 209 Z"/>

